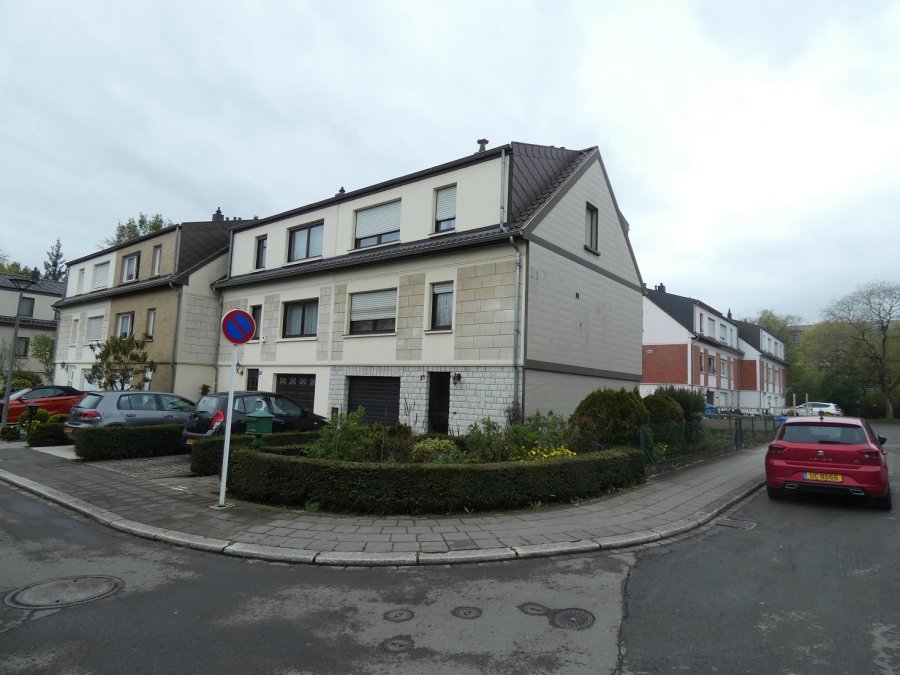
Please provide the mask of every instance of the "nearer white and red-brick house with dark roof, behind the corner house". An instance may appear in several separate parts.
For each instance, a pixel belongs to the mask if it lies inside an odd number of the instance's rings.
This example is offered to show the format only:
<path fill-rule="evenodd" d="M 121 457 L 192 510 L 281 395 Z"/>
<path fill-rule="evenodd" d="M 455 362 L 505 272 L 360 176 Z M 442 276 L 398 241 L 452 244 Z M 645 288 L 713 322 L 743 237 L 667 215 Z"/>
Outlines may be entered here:
<path fill-rule="evenodd" d="M 642 395 L 673 385 L 699 392 L 716 407 L 738 408 L 743 358 L 730 312 L 668 293 L 663 284 L 647 290 Z"/>

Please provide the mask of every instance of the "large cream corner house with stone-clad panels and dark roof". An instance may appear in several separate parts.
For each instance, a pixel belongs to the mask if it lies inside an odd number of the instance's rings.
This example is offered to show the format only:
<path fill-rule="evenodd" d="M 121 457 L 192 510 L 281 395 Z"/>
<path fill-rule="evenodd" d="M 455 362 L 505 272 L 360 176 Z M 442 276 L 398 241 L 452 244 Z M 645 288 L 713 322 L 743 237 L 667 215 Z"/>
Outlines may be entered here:
<path fill-rule="evenodd" d="M 640 381 L 642 281 L 597 148 L 511 143 L 235 226 L 239 388 L 464 432 Z M 232 345 L 220 339 L 218 388 Z"/>

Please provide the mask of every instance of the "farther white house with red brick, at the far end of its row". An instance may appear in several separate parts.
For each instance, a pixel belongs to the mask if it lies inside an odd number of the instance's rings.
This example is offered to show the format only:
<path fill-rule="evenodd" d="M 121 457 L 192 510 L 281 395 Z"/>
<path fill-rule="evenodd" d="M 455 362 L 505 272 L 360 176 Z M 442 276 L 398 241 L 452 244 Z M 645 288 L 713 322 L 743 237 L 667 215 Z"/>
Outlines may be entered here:
<path fill-rule="evenodd" d="M 787 390 L 784 342 L 756 324 L 746 321 L 735 321 L 735 324 L 744 352 L 740 366 L 740 407 L 780 413 L 786 406 Z"/>

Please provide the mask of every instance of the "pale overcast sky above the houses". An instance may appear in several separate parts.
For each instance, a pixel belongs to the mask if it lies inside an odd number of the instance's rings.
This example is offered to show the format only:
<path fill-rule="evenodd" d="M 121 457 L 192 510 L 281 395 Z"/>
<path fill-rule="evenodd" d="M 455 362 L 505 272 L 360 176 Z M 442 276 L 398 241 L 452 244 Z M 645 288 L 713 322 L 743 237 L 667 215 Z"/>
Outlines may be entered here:
<path fill-rule="evenodd" d="M 0 251 L 603 155 L 644 281 L 819 321 L 900 281 L 900 0 L 0 1 Z"/>

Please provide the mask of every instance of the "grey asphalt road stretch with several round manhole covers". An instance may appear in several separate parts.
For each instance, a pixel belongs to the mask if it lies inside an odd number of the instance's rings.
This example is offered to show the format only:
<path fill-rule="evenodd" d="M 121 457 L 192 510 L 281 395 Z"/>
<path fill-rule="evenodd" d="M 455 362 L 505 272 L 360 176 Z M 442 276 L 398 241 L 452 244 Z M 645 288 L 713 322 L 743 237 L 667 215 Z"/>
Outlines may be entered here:
<path fill-rule="evenodd" d="M 618 663 L 628 554 L 341 569 L 145 541 L 7 486 L 0 513 L 2 673 L 609 673 Z M 86 601 L 61 606 L 72 600 Z"/>

